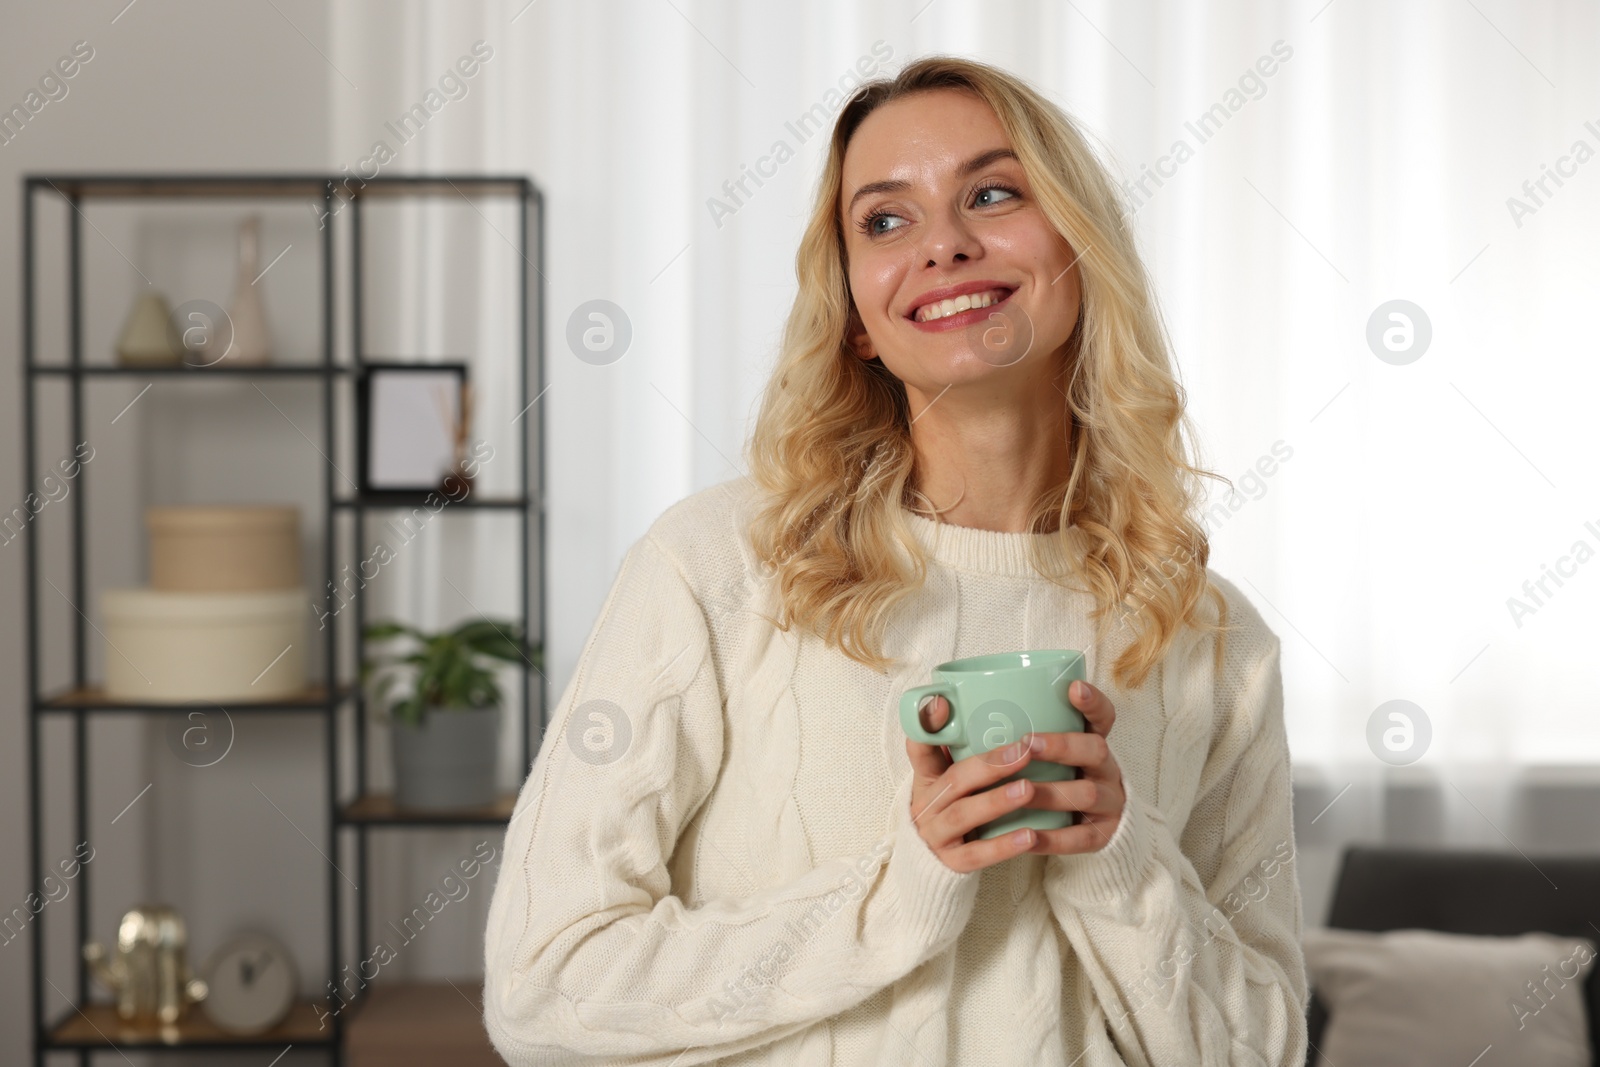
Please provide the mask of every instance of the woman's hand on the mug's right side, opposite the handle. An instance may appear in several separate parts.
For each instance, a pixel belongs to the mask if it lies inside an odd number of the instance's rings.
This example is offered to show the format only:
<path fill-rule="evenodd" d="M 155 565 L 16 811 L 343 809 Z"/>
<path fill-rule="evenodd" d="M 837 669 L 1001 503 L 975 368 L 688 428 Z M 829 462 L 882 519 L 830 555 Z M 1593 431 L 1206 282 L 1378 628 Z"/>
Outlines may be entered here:
<path fill-rule="evenodd" d="M 1088 681 L 1074 681 L 1067 689 L 1072 707 L 1083 712 L 1085 729 L 1029 734 L 1037 742 L 1035 760 L 1050 760 L 1080 769 L 1078 777 L 1067 782 L 1030 782 L 1027 808 L 1050 811 L 1078 811 L 1077 825 L 1059 830 L 1038 830 L 1038 840 L 1030 853 L 1064 856 L 1070 853 L 1094 853 L 1110 841 L 1122 822 L 1122 809 L 1128 803 L 1122 790 L 1122 768 L 1110 753 L 1106 736 L 1117 721 L 1117 709 L 1104 693 Z M 1027 737 L 1024 737 L 1026 741 Z M 965 760 L 963 760 L 965 761 Z"/>

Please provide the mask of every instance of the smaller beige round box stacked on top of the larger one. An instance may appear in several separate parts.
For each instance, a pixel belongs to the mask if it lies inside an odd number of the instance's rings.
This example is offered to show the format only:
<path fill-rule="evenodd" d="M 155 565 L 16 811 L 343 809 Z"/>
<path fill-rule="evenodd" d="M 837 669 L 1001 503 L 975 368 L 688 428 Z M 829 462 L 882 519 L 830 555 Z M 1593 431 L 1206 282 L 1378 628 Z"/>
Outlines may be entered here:
<path fill-rule="evenodd" d="M 293 589 L 302 581 L 296 507 L 147 507 L 144 526 L 150 534 L 152 589 Z"/>

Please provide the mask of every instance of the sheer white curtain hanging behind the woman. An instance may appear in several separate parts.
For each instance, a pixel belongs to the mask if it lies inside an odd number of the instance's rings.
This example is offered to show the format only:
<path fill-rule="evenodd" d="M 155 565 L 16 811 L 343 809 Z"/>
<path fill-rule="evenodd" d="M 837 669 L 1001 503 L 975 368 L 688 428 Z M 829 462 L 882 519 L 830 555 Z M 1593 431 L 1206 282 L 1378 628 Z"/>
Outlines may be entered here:
<path fill-rule="evenodd" d="M 1202 462 L 1238 488 L 1213 494 L 1213 566 L 1283 638 L 1315 923 L 1344 841 L 1600 845 L 1539 793 L 1600 761 L 1597 30 L 1576 0 L 352 3 L 331 150 L 365 157 L 494 50 L 387 170 L 549 195 L 558 693 L 622 549 L 742 469 L 826 141 L 798 117 L 930 51 L 1043 88 L 1130 182 Z M 461 264 L 502 238 L 461 227 L 416 234 L 397 277 L 488 317 L 504 294 Z M 592 299 L 632 328 L 605 365 L 566 344 Z M 430 302 L 397 330 L 426 338 Z M 1381 758 L 1424 717 L 1419 758 Z"/>

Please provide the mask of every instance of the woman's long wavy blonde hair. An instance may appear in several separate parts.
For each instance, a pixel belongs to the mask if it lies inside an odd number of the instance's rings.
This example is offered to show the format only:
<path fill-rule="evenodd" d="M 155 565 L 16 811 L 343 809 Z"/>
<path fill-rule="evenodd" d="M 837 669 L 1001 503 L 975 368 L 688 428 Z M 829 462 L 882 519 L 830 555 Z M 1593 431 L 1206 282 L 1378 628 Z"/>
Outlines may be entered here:
<path fill-rule="evenodd" d="M 1040 210 L 1078 253 L 1082 304 L 1059 368 L 1070 475 L 1034 502 L 1029 523 L 1032 533 L 1062 539 L 1067 569 L 1054 573 L 1038 553 L 1034 566 L 1088 590 L 1094 621 L 1136 617 L 1138 632 L 1114 664 L 1120 685 L 1144 685 L 1184 625 L 1218 637 L 1221 664 L 1222 633 L 1232 627 L 1205 569 L 1200 477 L 1229 480 L 1187 459 L 1186 394 L 1118 189 L 1061 109 L 1005 70 L 954 56 L 926 56 L 859 86 L 834 125 L 795 254 L 798 294 L 746 446 L 763 491 L 750 544 L 781 595 L 771 621 L 886 672 L 888 616 L 926 577 L 926 555 L 901 514 L 920 510 L 914 501 L 922 496 L 906 387 L 846 341 L 854 302 L 840 186 L 845 149 L 872 110 L 950 88 L 994 109 Z M 1069 525 L 1082 533 L 1082 547 L 1072 545 Z M 1206 593 L 1214 619 L 1202 606 Z"/>

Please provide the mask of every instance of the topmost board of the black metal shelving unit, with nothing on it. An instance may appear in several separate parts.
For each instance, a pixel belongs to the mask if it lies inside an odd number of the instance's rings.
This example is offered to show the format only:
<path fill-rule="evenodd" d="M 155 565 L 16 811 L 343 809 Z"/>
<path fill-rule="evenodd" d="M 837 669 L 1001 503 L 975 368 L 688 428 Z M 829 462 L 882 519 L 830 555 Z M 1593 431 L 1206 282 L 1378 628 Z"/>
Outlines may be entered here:
<path fill-rule="evenodd" d="M 418 194 L 531 195 L 539 200 L 539 192 L 526 178 L 498 174 L 389 174 L 368 179 L 350 174 L 29 174 L 26 181 L 32 189 L 54 189 L 69 197 L 106 200 L 149 197 L 320 198 L 328 182 L 334 184 L 334 195 L 344 200 Z"/>

